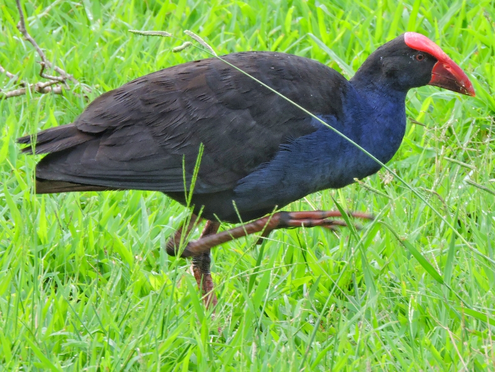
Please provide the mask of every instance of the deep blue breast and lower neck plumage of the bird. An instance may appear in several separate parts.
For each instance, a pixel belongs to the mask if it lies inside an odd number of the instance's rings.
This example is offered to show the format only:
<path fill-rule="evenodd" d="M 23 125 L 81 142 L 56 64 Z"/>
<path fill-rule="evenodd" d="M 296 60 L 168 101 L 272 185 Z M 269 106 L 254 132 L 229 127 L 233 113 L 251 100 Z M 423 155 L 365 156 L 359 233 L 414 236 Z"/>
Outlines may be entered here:
<path fill-rule="evenodd" d="M 343 99 L 344 116 L 319 116 L 382 162 L 396 153 L 405 131 L 405 94 L 381 89 L 352 90 Z M 239 181 L 236 204 L 284 206 L 310 193 L 341 188 L 381 166 L 346 139 L 308 118 L 317 130 L 284 145 L 274 159 Z"/>

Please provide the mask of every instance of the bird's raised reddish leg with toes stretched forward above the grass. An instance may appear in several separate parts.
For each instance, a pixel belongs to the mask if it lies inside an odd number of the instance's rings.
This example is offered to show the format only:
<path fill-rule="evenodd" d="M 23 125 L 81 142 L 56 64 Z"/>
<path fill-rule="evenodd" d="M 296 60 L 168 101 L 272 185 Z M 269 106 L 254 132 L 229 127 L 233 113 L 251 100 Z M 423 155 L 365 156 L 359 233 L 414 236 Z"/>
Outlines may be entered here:
<path fill-rule="evenodd" d="M 373 219 L 367 213 L 349 213 L 355 218 Z M 344 221 L 330 219 L 342 217 L 339 211 L 309 211 L 309 212 L 278 212 L 273 215 L 257 219 L 245 225 L 222 231 L 217 234 L 204 236 L 196 241 L 189 242 L 181 257 L 198 256 L 210 248 L 237 239 L 252 233 L 263 231 L 267 235 L 270 231 L 286 227 L 314 227 L 323 226 L 334 230 L 337 226 L 347 226 Z M 174 250 L 168 250 L 169 255 L 175 255 Z"/>

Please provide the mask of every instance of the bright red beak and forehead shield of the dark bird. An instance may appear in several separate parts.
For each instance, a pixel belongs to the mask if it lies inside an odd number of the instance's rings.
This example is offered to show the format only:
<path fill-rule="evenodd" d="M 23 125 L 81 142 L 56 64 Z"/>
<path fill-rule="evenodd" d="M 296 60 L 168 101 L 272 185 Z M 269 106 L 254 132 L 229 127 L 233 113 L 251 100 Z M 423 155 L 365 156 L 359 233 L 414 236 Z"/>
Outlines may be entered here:
<path fill-rule="evenodd" d="M 429 53 L 437 58 L 438 62 L 433 66 L 432 79 L 428 85 L 435 85 L 467 96 L 476 96 L 473 84 L 467 75 L 437 44 L 415 32 L 406 32 L 404 42 L 409 48 Z"/>

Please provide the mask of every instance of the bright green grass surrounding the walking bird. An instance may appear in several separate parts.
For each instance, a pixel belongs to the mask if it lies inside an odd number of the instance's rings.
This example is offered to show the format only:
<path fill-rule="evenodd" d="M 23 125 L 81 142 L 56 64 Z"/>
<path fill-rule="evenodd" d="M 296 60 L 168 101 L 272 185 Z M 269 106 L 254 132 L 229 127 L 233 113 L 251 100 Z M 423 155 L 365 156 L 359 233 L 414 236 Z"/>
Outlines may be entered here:
<path fill-rule="evenodd" d="M 489 371 L 495 365 L 494 1 L 35 1 L 28 30 L 90 100 L 159 68 L 205 57 L 128 29 L 193 30 L 217 53 L 273 50 L 349 77 L 404 31 L 438 42 L 477 97 L 409 93 L 401 148 L 388 164 L 424 202 L 380 171 L 288 210 L 378 215 L 362 231 L 277 231 L 213 252 L 211 317 L 189 262 L 165 239 L 187 211 L 159 193 L 36 196 L 40 157 L 15 139 L 71 122 L 87 105 L 64 96 L 0 101 L 0 370 Z M 49 7 L 49 8 L 48 8 Z M 0 64 L 37 81 L 39 60 L 0 4 Z M 9 89 L 0 75 L 0 86 Z M 335 201 L 335 202 L 334 202 Z M 222 228 L 228 228 L 224 225 Z M 405 239 L 397 240 L 396 235 Z M 441 284 L 443 282 L 444 284 Z M 320 322 L 318 321 L 321 320 Z M 220 330 L 219 330 L 220 328 Z"/>

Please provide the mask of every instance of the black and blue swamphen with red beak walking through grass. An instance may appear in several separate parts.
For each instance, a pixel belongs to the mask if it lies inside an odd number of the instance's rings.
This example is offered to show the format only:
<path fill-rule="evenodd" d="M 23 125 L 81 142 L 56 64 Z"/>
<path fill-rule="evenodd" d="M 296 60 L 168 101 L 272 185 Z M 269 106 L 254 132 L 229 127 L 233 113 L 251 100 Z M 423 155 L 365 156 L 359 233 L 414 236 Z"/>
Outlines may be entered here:
<path fill-rule="evenodd" d="M 433 85 L 475 96 L 465 72 L 415 32 L 380 46 L 350 80 L 288 53 L 222 58 L 383 163 L 403 139 L 410 89 Z M 262 239 L 278 228 L 345 225 L 335 219 L 342 217 L 337 211 L 280 210 L 381 168 L 319 120 L 215 57 L 139 77 L 96 98 L 72 123 L 18 142 L 27 145 L 25 153 L 47 154 L 36 165 L 38 194 L 150 190 L 191 206 L 192 216 L 169 238 L 166 250 L 192 257 L 207 306 L 217 304 L 212 247 L 255 232 Z M 206 223 L 199 239 L 182 244 L 200 220 Z M 242 225 L 218 232 L 220 222 Z"/>

